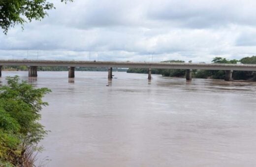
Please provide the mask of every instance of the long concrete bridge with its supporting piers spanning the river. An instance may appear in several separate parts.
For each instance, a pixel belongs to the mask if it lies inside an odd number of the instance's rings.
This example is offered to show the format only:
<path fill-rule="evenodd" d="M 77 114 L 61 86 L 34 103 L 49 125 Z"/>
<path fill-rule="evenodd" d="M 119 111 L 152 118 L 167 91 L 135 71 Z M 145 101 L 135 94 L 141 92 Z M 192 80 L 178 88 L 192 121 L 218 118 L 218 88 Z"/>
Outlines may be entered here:
<path fill-rule="evenodd" d="M 192 70 L 224 70 L 225 81 L 232 80 L 232 72 L 256 71 L 255 64 L 209 64 L 209 63 L 168 63 L 168 62 L 121 62 L 121 61 L 60 61 L 60 60 L 0 60 L 0 77 L 2 66 L 28 66 L 29 77 L 37 77 L 38 66 L 68 67 L 68 78 L 75 77 L 75 67 L 106 67 L 108 78 L 112 79 L 112 68 L 147 68 L 148 79 L 151 69 L 186 69 L 186 80 L 192 80 Z"/>

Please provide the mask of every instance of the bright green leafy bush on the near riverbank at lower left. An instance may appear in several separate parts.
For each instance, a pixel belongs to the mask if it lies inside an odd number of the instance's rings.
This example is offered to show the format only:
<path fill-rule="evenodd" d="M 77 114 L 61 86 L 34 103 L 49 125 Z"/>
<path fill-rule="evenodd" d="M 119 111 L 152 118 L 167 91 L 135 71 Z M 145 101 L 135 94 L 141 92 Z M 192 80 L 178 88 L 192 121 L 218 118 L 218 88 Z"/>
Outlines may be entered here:
<path fill-rule="evenodd" d="M 7 85 L 0 87 L 0 166 L 24 166 L 27 148 L 47 134 L 38 120 L 48 105 L 42 97 L 50 90 L 19 80 L 7 77 Z"/>

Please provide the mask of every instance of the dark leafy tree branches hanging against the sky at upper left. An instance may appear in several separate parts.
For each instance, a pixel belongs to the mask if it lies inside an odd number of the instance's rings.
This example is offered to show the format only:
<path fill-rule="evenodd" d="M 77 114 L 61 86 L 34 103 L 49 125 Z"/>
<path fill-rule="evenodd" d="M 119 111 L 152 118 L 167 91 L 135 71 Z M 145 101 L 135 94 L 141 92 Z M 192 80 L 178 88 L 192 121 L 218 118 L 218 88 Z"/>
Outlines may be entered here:
<path fill-rule="evenodd" d="M 61 0 L 62 2 L 73 0 Z M 47 11 L 53 9 L 54 4 L 48 0 L 0 0 L 0 27 L 4 34 L 9 28 L 27 21 L 41 20 L 47 16 Z"/>

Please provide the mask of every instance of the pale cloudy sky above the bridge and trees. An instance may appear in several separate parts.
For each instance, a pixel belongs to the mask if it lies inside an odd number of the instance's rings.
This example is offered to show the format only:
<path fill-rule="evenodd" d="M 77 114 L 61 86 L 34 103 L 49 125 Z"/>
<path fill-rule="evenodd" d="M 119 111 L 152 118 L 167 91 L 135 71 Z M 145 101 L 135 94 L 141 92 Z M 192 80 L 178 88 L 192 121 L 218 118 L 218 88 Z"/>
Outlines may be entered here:
<path fill-rule="evenodd" d="M 0 59 L 211 62 L 256 55 L 255 0 L 52 0 L 0 33 Z"/>

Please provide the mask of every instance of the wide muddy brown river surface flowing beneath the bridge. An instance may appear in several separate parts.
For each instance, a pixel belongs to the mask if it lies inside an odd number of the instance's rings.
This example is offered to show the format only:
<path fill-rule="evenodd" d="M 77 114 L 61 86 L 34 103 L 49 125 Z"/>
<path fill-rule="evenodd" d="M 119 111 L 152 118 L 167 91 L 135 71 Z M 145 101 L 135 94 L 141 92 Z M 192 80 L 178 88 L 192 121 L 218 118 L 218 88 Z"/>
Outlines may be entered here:
<path fill-rule="evenodd" d="M 256 83 L 113 73 L 76 72 L 74 84 L 67 72 L 38 72 L 31 82 L 52 89 L 39 155 L 48 167 L 256 166 Z M 28 80 L 3 72 L 15 74 Z"/>

